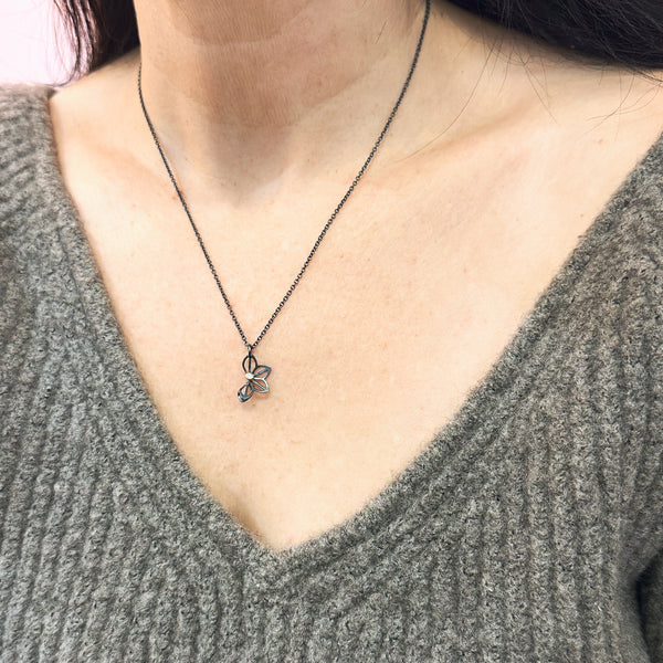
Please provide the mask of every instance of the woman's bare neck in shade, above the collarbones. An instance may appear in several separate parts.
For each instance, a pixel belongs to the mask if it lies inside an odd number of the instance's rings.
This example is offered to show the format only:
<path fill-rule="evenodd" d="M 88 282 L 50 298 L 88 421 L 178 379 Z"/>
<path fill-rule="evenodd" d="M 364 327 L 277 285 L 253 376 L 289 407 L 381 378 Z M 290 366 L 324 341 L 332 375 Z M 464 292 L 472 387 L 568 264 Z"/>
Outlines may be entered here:
<path fill-rule="evenodd" d="M 423 8 L 423 0 L 136 0 L 146 85 L 155 102 L 196 104 L 233 131 L 286 134 L 346 90 L 365 96 L 360 81 L 397 82 Z"/>

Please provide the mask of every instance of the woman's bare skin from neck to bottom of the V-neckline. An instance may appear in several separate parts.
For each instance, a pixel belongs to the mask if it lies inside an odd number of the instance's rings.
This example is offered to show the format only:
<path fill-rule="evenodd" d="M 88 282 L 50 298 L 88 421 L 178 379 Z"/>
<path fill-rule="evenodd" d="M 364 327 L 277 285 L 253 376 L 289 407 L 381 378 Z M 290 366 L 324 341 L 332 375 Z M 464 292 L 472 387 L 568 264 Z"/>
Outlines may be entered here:
<path fill-rule="evenodd" d="M 148 110 L 253 340 L 379 134 L 422 4 L 338 3 L 355 32 L 312 23 L 332 3 L 254 23 L 244 4 L 136 2 Z M 244 348 L 145 125 L 138 55 L 52 97 L 63 177 L 177 448 L 273 550 L 421 453 L 663 130 L 655 84 L 433 4 L 388 138 L 255 350 L 272 391 L 240 404 Z"/>

